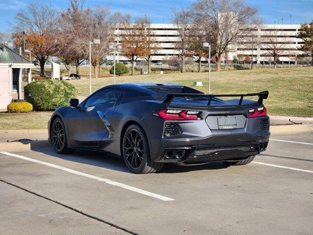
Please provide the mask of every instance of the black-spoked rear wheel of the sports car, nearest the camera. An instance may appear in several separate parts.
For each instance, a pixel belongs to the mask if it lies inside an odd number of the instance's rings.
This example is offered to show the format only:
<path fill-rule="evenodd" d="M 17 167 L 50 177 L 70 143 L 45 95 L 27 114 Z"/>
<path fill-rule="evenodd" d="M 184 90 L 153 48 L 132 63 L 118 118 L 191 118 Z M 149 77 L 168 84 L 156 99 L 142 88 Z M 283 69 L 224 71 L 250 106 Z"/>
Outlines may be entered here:
<path fill-rule="evenodd" d="M 164 164 L 151 160 L 147 136 L 137 125 L 131 125 L 126 129 L 121 153 L 127 167 L 136 174 L 155 173 Z"/>

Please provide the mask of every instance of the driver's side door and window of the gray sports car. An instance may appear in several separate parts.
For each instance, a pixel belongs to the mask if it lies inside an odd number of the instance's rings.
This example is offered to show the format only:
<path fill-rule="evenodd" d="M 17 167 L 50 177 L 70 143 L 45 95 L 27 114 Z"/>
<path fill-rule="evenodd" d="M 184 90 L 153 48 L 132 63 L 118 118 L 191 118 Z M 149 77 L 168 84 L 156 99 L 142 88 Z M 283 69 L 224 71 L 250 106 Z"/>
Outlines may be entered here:
<path fill-rule="evenodd" d="M 97 147 L 109 132 L 102 116 L 114 105 L 122 90 L 108 88 L 88 97 L 81 107 L 74 109 L 67 118 L 70 145 Z"/>

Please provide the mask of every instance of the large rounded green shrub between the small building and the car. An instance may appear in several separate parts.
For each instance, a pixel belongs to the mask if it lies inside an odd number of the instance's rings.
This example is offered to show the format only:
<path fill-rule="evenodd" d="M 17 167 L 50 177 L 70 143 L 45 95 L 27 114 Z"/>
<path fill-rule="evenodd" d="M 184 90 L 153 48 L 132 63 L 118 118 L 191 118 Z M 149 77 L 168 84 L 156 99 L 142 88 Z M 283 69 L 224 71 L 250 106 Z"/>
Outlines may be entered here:
<path fill-rule="evenodd" d="M 76 88 L 66 81 L 38 80 L 24 87 L 26 100 L 36 111 L 55 110 L 60 106 L 68 106 L 70 98 L 77 98 Z"/>

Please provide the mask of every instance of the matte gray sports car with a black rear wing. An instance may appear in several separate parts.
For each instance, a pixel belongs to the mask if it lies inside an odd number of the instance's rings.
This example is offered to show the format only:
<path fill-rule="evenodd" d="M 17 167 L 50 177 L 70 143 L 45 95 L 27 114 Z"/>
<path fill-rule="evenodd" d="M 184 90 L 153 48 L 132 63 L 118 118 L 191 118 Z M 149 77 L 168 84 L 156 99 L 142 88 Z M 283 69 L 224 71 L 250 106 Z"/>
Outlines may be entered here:
<path fill-rule="evenodd" d="M 268 145 L 267 97 L 203 94 L 173 83 L 110 85 L 55 110 L 49 141 L 57 153 L 112 153 L 134 173 L 157 172 L 164 163 L 248 164 Z"/>

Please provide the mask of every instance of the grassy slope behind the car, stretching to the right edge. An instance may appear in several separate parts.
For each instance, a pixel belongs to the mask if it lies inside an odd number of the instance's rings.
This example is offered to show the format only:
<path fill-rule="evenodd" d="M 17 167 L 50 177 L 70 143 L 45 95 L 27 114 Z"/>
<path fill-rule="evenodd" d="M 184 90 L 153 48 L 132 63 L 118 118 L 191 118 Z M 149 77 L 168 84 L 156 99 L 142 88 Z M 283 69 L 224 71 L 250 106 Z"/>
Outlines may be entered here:
<path fill-rule="evenodd" d="M 245 94 L 269 91 L 264 104 L 268 114 L 313 117 L 313 67 L 221 71 L 211 73 L 213 94 Z M 193 86 L 201 81 L 202 87 Z M 112 84 L 113 78 L 93 78 L 92 91 Z M 166 73 L 116 77 L 123 82 L 174 82 L 208 91 L 208 73 Z M 88 94 L 89 80 L 71 80 L 79 94 Z"/>

